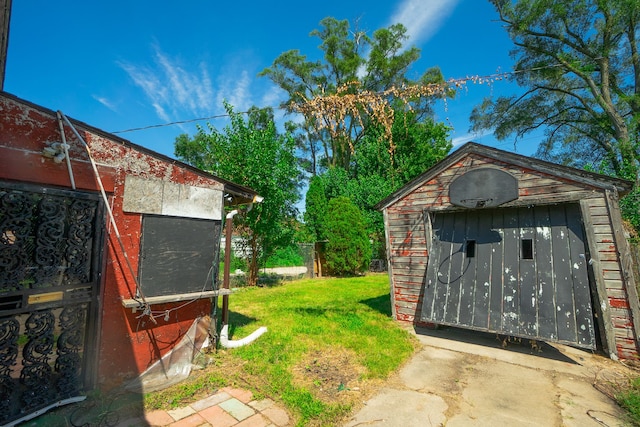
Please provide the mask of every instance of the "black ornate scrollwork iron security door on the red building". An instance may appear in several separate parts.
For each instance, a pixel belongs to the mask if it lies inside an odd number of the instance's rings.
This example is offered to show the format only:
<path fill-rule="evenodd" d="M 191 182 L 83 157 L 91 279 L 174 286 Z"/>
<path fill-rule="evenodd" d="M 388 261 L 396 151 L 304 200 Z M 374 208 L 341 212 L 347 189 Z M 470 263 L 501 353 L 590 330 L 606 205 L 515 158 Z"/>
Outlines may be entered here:
<path fill-rule="evenodd" d="M 0 181 L 0 425 L 93 384 L 98 195 Z"/>

